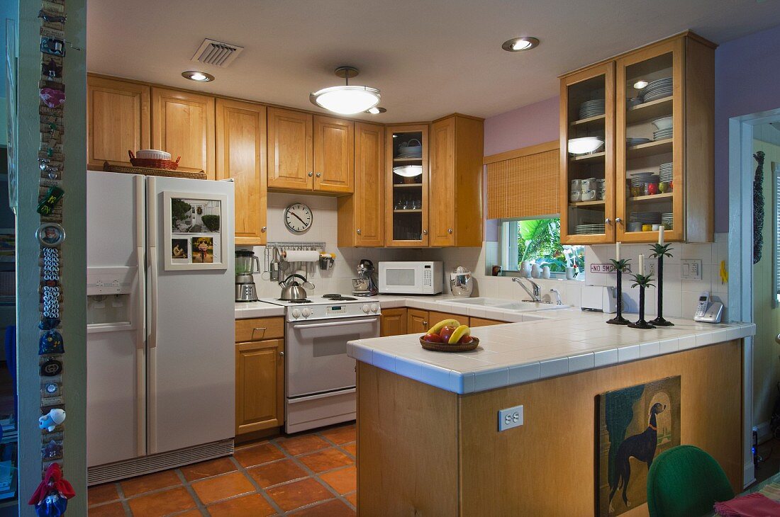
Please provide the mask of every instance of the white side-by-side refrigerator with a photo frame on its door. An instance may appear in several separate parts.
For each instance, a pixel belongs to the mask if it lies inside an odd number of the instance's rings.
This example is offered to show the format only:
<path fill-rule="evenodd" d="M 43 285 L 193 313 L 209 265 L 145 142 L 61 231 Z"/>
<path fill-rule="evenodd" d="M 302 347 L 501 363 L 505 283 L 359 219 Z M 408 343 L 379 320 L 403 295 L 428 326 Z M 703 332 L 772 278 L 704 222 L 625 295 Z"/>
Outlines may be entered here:
<path fill-rule="evenodd" d="M 232 182 L 87 171 L 90 484 L 232 451 L 234 280 Z"/>

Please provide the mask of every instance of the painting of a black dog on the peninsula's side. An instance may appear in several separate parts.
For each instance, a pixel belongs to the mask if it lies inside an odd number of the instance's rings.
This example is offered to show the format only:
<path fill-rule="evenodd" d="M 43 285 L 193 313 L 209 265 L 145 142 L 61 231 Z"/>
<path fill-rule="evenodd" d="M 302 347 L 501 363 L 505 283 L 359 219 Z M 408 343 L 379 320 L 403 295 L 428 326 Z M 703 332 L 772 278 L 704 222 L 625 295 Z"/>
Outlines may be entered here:
<path fill-rule="evenodd" d="M 680 445 L 680 378 L 598 396 L 598 514 L 620 515 L 647 502 L 653 459 Z"/>

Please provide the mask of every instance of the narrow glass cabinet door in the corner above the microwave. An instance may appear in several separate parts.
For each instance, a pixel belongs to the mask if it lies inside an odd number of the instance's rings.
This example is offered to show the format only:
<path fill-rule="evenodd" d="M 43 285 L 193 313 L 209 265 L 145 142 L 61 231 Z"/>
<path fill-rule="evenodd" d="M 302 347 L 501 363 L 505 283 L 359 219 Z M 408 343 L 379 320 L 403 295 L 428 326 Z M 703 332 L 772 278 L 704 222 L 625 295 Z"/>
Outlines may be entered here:
<path fill-rule="evenodd" d="M 385 231 L 388 246 L 428 245 L 428 126 L 386 128 L 388 167 Z"/>

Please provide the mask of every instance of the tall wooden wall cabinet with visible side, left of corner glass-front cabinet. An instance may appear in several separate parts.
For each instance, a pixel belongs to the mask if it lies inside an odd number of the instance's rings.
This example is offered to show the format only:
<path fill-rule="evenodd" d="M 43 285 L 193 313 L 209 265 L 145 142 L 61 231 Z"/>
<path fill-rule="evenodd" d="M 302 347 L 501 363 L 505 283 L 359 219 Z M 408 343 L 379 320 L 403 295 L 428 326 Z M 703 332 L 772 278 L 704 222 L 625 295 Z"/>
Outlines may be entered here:
<path fill-rule="evenodd" d="M 355 192 L 339 198 L 339 247 L 385 244 L 385 128 L 355 123 Z"/>

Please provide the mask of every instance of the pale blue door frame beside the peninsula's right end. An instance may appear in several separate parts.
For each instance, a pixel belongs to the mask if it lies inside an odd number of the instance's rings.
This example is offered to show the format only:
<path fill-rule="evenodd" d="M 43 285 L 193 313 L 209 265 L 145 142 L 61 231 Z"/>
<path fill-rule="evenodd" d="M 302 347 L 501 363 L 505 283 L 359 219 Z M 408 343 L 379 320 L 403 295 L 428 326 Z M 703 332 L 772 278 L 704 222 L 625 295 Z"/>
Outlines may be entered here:
<path fill-rule="evenodd" d="M 780 108 L 729 118 L 729 321 L 753 322 L 753 126 L 780 121 Z M 753 469 L 753 337 L 743 350 L 743 486 Z"/>

